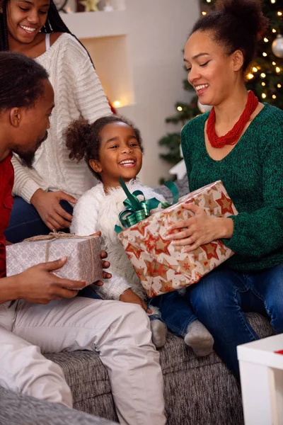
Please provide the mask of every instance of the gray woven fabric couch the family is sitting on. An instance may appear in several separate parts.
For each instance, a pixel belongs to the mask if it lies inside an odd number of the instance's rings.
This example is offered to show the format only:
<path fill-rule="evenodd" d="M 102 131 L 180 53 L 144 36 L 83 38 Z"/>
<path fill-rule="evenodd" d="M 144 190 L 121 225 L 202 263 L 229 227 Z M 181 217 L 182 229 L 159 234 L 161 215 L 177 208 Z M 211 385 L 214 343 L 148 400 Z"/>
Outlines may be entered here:
<path fill-rule="evenodd" d="M 178 186 L 181 195 L 187 193 L 186 179 Z M 159 191 L 168 195 L 163 188 Z M 248 318 L 262 338 L 272 334 L 267 319 L 255 313 L 248 314 Z M 169 334 L 160 355 L 168 425 L 243 424 L 239 385 L 215 353 L 197 358 L 183 339 Z M 45 356 L 62 366 L 75 409 L 117 421 L 108 373 L 96 353 L 76 351 Z M 100 424 L 99 419 L 65 410 L 0 388 L 0 425 Z"/>

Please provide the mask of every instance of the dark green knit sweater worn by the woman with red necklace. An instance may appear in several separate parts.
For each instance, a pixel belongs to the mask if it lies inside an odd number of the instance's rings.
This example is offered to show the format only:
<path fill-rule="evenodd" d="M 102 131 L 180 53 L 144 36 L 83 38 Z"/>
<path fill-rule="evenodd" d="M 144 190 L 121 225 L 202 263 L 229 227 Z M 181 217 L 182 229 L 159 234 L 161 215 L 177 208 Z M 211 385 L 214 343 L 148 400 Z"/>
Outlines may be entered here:
<path fill-rule="evenodd" d="M 283 111 L 265 103 L 220 161 L 205 147 L 208 115 L 187 123 L 181 142 L 190 190 L 221 180 L 238 210 L 233 236 L 223 240 L 236 254 L 224 266 L 248 272 L 283 263 Z"/>

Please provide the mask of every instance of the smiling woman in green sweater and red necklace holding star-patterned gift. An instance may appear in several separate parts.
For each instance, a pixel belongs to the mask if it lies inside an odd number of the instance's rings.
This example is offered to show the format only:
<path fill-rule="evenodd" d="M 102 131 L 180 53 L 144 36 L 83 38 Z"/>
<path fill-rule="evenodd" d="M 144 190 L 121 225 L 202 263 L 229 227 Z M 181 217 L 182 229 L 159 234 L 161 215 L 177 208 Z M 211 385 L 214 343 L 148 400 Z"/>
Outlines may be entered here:
<path fill-rule="evenodd" d="M 245 312 L 260 312 L 283 332 L 283 111 L 259 103 L 244 75 L 267 25 L 258 0 L 222 0 L 200 18 L 185 45 L 188 81 L 209 114 L 191 120 L 181 140 L 190 189 L 221 180 L 238 210 L 193 217 L 168 239 L 190 252 L 223 239 L 236 254 L 187 290 L 214 349 L 239 377 L 236 346 L 258 339 Z"/>

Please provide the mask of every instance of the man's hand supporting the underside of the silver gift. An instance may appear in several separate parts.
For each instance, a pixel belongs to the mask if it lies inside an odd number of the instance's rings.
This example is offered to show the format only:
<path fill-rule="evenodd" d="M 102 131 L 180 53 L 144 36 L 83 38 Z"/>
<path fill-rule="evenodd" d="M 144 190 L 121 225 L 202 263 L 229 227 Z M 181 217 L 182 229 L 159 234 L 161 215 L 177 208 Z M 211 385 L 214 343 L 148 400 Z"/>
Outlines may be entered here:
<path fill-rule="evenodd" d="M 23 273 L 7 278 L 14 280 L 16 298 L 37 304 L 47 304 L 51 300 L 62 298 L 74 298 L 78 290 L 85 288 L 88 283 L 62 279 L 50 273 L 64 266 L 66 262 L 67 257 L 64 257 L 57 261 L 37 264 Z"/>

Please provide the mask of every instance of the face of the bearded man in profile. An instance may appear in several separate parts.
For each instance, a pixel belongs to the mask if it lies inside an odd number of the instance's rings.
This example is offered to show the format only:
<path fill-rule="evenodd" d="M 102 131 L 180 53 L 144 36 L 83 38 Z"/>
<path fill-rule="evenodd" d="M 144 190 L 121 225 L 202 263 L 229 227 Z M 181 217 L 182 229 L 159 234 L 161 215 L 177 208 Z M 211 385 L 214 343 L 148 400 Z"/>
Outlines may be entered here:
<path fill-rule="evenodd" d="M 12 128 L 11 151 L 18 154 L 26 166 L 32 166 L 38 147 L 47 138 L 50 115 L 54 108 L 54 91 L 50 81 L 42 81 L 44 93 L 30 108 L 13 108 L 10 112 Z"/>

